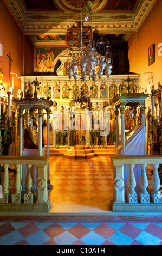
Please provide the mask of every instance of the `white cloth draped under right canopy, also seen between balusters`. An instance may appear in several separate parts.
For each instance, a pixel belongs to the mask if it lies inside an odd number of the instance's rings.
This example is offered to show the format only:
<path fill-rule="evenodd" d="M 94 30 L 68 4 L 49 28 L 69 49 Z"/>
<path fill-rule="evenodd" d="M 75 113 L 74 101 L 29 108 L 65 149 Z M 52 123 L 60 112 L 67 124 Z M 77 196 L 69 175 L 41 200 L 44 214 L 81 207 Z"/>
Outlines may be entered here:
<path fill-rule="evenodd" d="M 133 139 L 129 142 L 124 149 L 121 150 L 121 155 L 146 155 L 146 127 L 142 129 Z M 136 187 L 135 191 L 139 190 L 139 179 L 141 175 L 141 167 L 139 164 L 135 164 L 133 168 Z M 125 191 L 128 190 L 127 180 L 129 175 L 128 164 L 124 165 L 124 180 L 125 180 Z"/>

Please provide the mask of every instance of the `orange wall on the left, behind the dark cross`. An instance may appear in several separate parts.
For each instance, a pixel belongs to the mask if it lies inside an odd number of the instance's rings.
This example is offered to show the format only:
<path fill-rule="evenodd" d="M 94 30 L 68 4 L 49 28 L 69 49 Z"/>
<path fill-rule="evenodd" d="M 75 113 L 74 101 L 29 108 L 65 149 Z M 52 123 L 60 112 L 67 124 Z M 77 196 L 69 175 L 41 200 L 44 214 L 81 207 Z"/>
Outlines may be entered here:
<path fill-rule="evenodd" d="M 7 54 L 11 52 L 11 72 L 16 73 L 18 77 L 28 75 L 33 72 L 33 52 L 34 47 L 28 38 L 23 35 L 16 21 L 4 2 L 0 1 L 0 43 L 3 46 L 3 56 L 0 56 L 1 67 L 4 71 L 3 81 L 6 91 L 9 88 L 9 59 Z M 21 89 L 21 79 L 16 75 L 14 77 L 15 91 Z"/>

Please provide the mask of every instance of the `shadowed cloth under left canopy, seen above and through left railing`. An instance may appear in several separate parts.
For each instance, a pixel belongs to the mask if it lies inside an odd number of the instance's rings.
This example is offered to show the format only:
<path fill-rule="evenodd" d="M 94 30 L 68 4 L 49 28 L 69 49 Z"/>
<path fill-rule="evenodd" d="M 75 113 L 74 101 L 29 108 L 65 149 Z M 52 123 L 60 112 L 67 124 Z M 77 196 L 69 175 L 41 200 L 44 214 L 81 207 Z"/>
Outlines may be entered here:
<path fill-rule="evenodd" d="M 45 147 L 42 147 L 42 156 L 44 156 L 45 154 Z M 24 149 L 23 150 L 23 155 L 24 156 L 38 156 L 38 149 Z M 25 190 L 27 190 L 26 186 L 25 186 L 25 180 L 27 177 L 27 173 L 28 173 L 28 168 L 27 166 L 23 166 L 23 172 L 22 172 L 22 190 L 23 192 L 25 192 Z M 36 193 L 36 181 L 37 181 L 37 166 L 34 165 L 31 167 L 31 178 L 33 180 L 33 187 L 32 190 Z"/>

